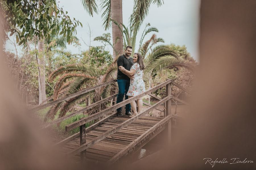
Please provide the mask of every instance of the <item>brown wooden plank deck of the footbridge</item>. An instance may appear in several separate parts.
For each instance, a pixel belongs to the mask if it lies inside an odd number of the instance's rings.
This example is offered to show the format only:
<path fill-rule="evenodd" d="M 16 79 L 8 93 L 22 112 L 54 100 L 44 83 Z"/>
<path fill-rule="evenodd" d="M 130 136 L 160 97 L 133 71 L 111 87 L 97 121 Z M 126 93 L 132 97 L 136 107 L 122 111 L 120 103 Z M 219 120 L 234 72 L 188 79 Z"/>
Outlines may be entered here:
<path fill-rule="evenodd" d="M 86 132 L 86 143 L 92 141 L 102 133 L 114 128 L 122 122 L 129 119 L 129 116 L 113 117 L 108 121 L 100 124 L 96 128 Z M 141 136 L 148 129 L 152 128 L 163 118 L 143 116 L 135 122 L 125 126 L 104 140 L 86 149 L 86 159 L 88 161 L 106 162 L 115 156 L 122 149 L 127 147 L 132 141 Z M 62 146 L 64 153 L 68 153 L 80 146 L 80 138 L 77 137 Z M 74 159 L 80 161 L 80 154 L 74 156 Z"/>

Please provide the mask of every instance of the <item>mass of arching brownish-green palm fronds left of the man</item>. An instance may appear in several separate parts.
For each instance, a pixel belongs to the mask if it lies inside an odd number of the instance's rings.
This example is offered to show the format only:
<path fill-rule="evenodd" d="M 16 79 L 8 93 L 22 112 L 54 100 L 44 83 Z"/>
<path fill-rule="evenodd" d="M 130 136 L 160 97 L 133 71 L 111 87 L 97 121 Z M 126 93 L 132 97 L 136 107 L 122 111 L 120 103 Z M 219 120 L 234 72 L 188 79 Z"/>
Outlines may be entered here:
<path fill-rule="evenodd" d="M 54 80 L 57 78 L 57 76 L 60 76 L 57 83 L 55 84 L 53 100 L 113 80 L 115 76 L 115 73 L 113 72 L 115 62 L 116 61 L 114 61 L 113 64 L 111 64 L 105 72 L 98 70 L 95 67 L 81 64 L 62 66 L 53 71 L 49 76 L 49 80 Z M 108 85 L 107 87 L 98 88 L 84 95 L 80 95 L 67 101 L 58 103 L 51 107 L 51 109 L 46 114 L 45 120 L 53 120 L 58 111 L 59 117 L 65 116 L 65 114 L 73 107 L 75 107 L 75 105 L 85 101 L 87 98 L 90 98 L 93 103 L 100 101 L 102 98 L 108 97 L 110 92 L 113 92 L 114 88 L 116 88 L 115 84 Z M 89 114 L 98 112 L 100 109 L 105 108 L 106 104 L 103 103 L 100 106 L 91 109 Z"/>

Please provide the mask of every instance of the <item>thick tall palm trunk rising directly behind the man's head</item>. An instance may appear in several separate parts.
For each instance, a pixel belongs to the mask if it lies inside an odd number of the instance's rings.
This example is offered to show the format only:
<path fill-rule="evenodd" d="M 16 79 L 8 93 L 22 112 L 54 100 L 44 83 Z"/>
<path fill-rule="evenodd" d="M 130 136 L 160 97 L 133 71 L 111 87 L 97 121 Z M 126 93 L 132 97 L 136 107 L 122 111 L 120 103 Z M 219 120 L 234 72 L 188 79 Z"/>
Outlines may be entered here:
<path fill-rule="evenodd" d="M 118 24 L 123 23 L 122 0 L 111 0 L 111 18 Z M 123 26 L 120 24 L 121 30 Z M 119 41 L 116 40 L 119 38 Z M 112 40 L 115 50 L 113 49 L 113 58 L 123 54 L 123 34 L 118 26 L 112 22 Z"/>

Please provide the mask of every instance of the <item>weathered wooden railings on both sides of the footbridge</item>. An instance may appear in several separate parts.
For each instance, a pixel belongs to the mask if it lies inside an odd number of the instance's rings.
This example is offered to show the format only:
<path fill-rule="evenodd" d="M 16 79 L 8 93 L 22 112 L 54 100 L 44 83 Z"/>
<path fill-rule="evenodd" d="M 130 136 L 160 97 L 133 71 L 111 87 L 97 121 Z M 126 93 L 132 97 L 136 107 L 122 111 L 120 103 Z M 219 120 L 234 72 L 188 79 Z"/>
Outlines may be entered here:
<path fill-rule="evenodd" d="M 49 102 L 49 103 L 40 105 L 40 106 L 38 106 L 38 107 L 36 107 L 36 108 L 33 108 L 32 111 L 38 111 L 38 110 L 40 110 L 40 109 L 44 109 L 44 108 L 49 107 L 49 106 L 51 106 L 51 105 L 57 104 L 57 103 L 59 103 L 59 102 L 61 102 L 61 101 L 64 101 L 64 100 L 67 100 L 67 99 L 71 99 L 71 98 L 73 98 L 73 97 L 76 97 L 76 96 L 85 94 L 85 93 L 87 93 L 87 92 L 90 92 L 90 91 L 92 91 L 92 90 L 95 90 L 96 88 L 100 88 L 100 87 L 103 87 L 103 86 L 107 86 L 107 85 L 112 84 L 112 83 L 115 83 L 115 82 L 116 82 L 116 80 L 112 80 L 112 81 L 109 81 L 109 82 L 106 82 L 106 83 L 103 83 L 103 84 L 94 86 L 94 87 L 92 87 L 92 88 L 85 89 L 85 90 L 83 90 L 83 91 L 80 91 L 80 92 L 77 92 L 77 93 L 75 93 L 75 94 L 72 94 L 72 95 L 63 97 L 63 98 L 58 99 L 58 100 L 56 100 L 56 101 L 52 101 L 52 102 Z M 148 90 L 148 91 L 146 91 L 146 92 L 144 92 L 144 93 L 142 93 L 142 94 L 139 94 L 139 95 L 137 95 L 137 96 L 131 97 L 131 98 L 125 100 L 125 101 L 122 101 L 122 102 L 120 102 L 120 103 L 117 103 L 117 104 L 113 105 L 112 107 L 109 107 L 109 108 L 104 109 L 104 110 L 102 110 L 102 111 L 100 111 L 100 112 L 97 112 L 97 113 L 95 113 L 95 114 L 92 114 L 92 115 L 90 115 L 90 116 L 88 116 L 88 117 L 86 117 L 86 118 L 82 118 L 81 120 L 79 120 L 79 121 L 77 121 L 77 122 L 74 122 L 74 123 L 71 123 L 71 124 L 67 125 L 67 126 L 65 127 L 65 130 L 66 130 L 66 131 L 69 131 L 69 130 L 74 129 L 74 128 L 77 128 L 77 127 L 80 127 L 80 132 L 79 132 L 79 133 L 76 133 L 76 134 L 74 134 L 74 135 L 72 135 L 71 137 L 69 137 L 69 138 L 67 138 L 67 139 L 64 139 L 63 141 L 60 141 L 60 142 L 57 143 L 57 144 L 66 143 L 66 142 L 71 141 L 72 139 L 74 139 L 74 138 L 80 136 L 80 147 L 77 148 L 77 149 L 75 149 L 75 150 L 73 150 L 73 151 L 70 152 L 69 154 L 75 155 L 75 154 L 80 153 L 80 155 L 81 155 L 81 160 L 82 160 L 82 161 L 85 161 L 85 155 L 86 155 L 86 149 L 87 149 L 87 148 L 89 148 L 90 146 L 92 146 L 92 145 L 94 145 L 94 144 L 96 144 L 96 143 L 102 141 L 102 140 L 105 139 L 106 137 L 108 137 L 108 136 L 112 135 L 113 133 L 119 131 L 120 129 L 124 128 L 125 126 L 131 124 L 132 122 L 134 122 L 134 121 L 136 121 L 137 119 L 141 118 L 143 115 L 149 113 L 150 111 L 152 111 L 152 110 L 154 110 L 154 109 L 158 109 L 157 107 L 160 106 L 162 103 L 165 104 L 165 111 L 164 111 L 164 117 L 165 117 L 165 118 L 164 118 L 163 120 L 161 120 L 160 122 L 158 122 L 155 126 L 153 126 L 152 128 L 150 128 L 148 131 L 146 131 L 145 133 L 143 133 L 139 138 L 137 138 L 135 141 L 133 141 L 131 144 L 129 144 L 126 148 L 124 148 L 124 149 L 121 150 L 119 153 L 117 153 L 117 154 L 110 160 L 110 162 L 113 163 L 113 162 L 115 162 L 116 160 L 118 160 L 118 159 L 119 159 L 121 156 L 123 156 L 127 151 L 129 151 L 129 149 L 131 149 L 131 148 L 133 148 L 135 145 L 137 145 L 137 144 L 138 144 L 141 140 L 143 140 L 143 138 L 146 137 L 148 134 L 152 133 L 154 130 L 158 129 L 160 126 L 163 126 L 163 124 L 166 124 L 166 123 L 167 123 L 167 125 L 166 125 L 166 132 L 167 132 L 167 134 L 168 134 L 169 132 L 171 133 L 171 122 L 172 122 L 172 121 L 170 121 L 170 120 L 171 120 L 171 118 L 177 118 L 176 115 L 171 114 L 171 99 L 177 100 L 177 101 L 179 101 L 179 102 L 181 102 L 181 103 L 187 105 L 187 103 L 186 103 L 185 101 L 180 100 L 180 99 L 178 99 L 178 98 L 176 98 L 176 97 L 173 97 L 173 96 L 171 95 L 171 85 L 172 85 L 172 84 L 175 85 L 175 86 L 177 86 L 178 88 L 180 88 L 181 90 L 183 90 L 184 92 L 186 92 L 186 93 L 189 94 L 189 92 L 187 92 L 187 90 L 184 89 L 184 88 L 183 88 L 182 86 L 180 86 L 179 84 L 173 82 L 173 81 L 170 80 L 170 79 L 169 79 L 169 80 L 166 80 L 165 82 L 163 82 L 163 83 L 161 83 L 161 84 L 159 84 L 159 85 L 157 85 L 157 86 L 151 88 L 150 90 Z M 154 91 L 156 91 L 156 90 L 158 90 L 159 88 L 162 88 L 162 87 L 164 87 L 164 86 L 166 86 L 166 97 L 164 97 L 164 99 L 161 99 L 161 98 L 159 98 L 159 97 L 157 97 L 157 96 L 151 94 L 152 92 L 154 92 Z M 48 126 L 51 126 L 52 124 L 55 124 L 55 123 L 59 123 L 59 122 L 65 120 L 65 119 L 67 119 L 67 118 L 70 118 L 70 117 L 75 116 L 75 115 L 77 115 L 77 114 L 79 114 L 79 113 L 82 113 L 82 112 L 84 112 L 84 111 L 86 111 L 86 110 L 88 110 L 88 109 L 91 109 L 91 108 L 93 108 L 93 107 L 95 107 L 95 106 L 97 106 L 97 105 L 99 105 L 99 104 L 101 104 L 101 103 L 107 102 L 107 101 L 109 101 L 109 100 L 115 98 L 116 95 L 117 95 L 117 94 L 114 94 L 114 95 L 112 95 L 112 96 L 110 96 L 110 97 L 107 97 L 107 98 L 102 99 L 102 100 L 100 100 L 100 101 L 98 101 L 98 102 L 95 102 L 95 103 L 93 103 L 92 105 L 86 106 L 86 107 L 83 108 L 83 109 L 80 109 L 80 110 L 78 110 L 78 111 L 76 111 L 76 112 L 73 112 L 73 113 L 71 113 L 71 114 L 69 114 L 69 115 L 67 115 L 67 116 L 63 116 L 63 117 L 61 117 L 61 118 L 58 118 L 57 120 L 54 120 L 54 121 L 52 121 L 52 122 L 49 122 L 49 123 L 45 124 L 45 125 L 43 126 L 43 128 L 46 128 L 46 127 L 48 127 Z M 150 105 L 150 104 L 148 104 L 148 103 L 144 103 L 145 105 L 150 106 L 150 107 L 147 107 L 147 109 L 146 109 L 144 112 L 142 112 L 141 114 L 138 114 L 138 115 L 136 115 L 136 116 L 134 116 L 134 117 L 132 117 L 132 118 L 126 120 L 125 122 L 119 124 L 119 125 L 116 126 L 115 128 L 112 128 L 112 129 L 110 129 L 110 130 L 104 132 L 102 135 L 100 135 L 100 136 L 96 137 L 95 139 L 93 139 L 92 141 L 86 143 L 86 131 L 89 131 L 89 130 L 95 128 L 95 127 L 98 126 L 99 124 L 102 124 L 103 122 L 105 122 L 105 121 L 109 120 L 110 118 L 112 118 L 113 116 L 115 116 L 115 115 L 116 115 L 116 109 L 117 109 L 117 108 L 120 108 L 120 107 L 122 107 L 122 106 L 125 106 L 126 104 L 131 103 L 131 101 L 135 101 L 135 100 L 137 100 L 137 99 L 139 99 L 140 97 L 143 97 L 143 96 L 145 96 L 145 95 L 150 95 L 150 96 L 152 96 L 152 97 L 158 99 L 159 101 L 158 101 L 156 104 L 154 104 L 154 105 Z M 158 109 L 158 110 L 160 110 L 160 109 Z M 90 127 L 88 127 L 88 128 L 85 127 L 85 124 L 86 124 L 86 123 L 88 123 L 88 122 L 90 122 L 90 121 L 92 121 L 92 120 L 95 120 L 95 119 L 99 118 L 100 116 L 109 114 L 110 112 L 113 112 L 113 111 L 114 111 L 113 114 L 111 114 L 110 116 L 104 118 L 104 119 L 101 120 L 100 122 L 97 122 L 96 124 L 93 124 L 92 126 L 90 126 Z M 160 110 L 160 111 L 162 111 L 162 110 Z M 168 141 L 171 141 L 171 135 L 168 135 Z"/>

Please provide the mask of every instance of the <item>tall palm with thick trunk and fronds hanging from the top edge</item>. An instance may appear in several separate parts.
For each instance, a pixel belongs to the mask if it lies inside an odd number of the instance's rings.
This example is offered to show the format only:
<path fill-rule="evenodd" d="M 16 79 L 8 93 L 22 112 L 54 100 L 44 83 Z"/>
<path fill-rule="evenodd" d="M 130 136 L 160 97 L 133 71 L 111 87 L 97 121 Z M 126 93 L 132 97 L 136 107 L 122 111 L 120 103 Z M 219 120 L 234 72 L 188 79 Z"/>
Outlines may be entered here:
<path fill-rule="evenodd" d="M 163 3 L 163 0 L 134 0 L 133 13 L 131 15 L 132 27 L 135 26 L 137 22 L 143 22 L 148 14 L 150 4 L 157 4 L 159 7 Z M 98 6 L 95 0 L 82 0 L 82 4 L 91 16 L 93 16 L 94 13 L 98 14 Z M 121 23 L 123 23 L 122 0 L 101 0 L 100 6 L 103 10 L 102 18 L 105 30 L 111 26 L 112 22 L 113 57 L 116 58 L 119 54 L 123 53 L 123 28 L 121 25 Z M 118 24 L 114 24 L 113 21 Z M 119 29 L 121 29 L 121 32 Z"/>

